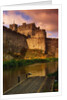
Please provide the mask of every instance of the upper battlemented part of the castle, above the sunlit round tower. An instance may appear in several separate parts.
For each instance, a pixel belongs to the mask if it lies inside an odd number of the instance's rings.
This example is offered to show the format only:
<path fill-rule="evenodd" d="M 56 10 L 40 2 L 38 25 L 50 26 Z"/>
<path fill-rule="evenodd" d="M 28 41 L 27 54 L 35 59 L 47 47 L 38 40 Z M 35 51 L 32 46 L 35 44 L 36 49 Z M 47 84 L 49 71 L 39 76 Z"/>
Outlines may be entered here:
<path fill-rule="evenodd" d="M 46 31 L 44 29 L 40 29 L 40 27 L 36 27 L 35 23 L 29 23 L 29 24 L 23 23 L 20 26 L 18 26 L 17 24 L 11 24 L 9 25 L 9 27 L 11 30 L 19 32 L 20 34 L 23 34 L 25 36 L 36 37 L 36 34 L 42 34 L 42 33 L 43 36 L 46 36 L 45 35 Z"/>

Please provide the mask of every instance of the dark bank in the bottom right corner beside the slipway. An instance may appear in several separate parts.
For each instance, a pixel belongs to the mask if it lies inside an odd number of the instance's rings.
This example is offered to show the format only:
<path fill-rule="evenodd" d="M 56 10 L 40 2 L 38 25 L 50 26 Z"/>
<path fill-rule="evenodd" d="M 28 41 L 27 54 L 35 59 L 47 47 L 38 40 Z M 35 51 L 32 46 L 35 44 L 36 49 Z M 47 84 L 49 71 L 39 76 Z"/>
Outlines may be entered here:
<path fill-rule="evenodd" d="M 58 71 L 47 75 L 43 92 L 58 92 Z"/>

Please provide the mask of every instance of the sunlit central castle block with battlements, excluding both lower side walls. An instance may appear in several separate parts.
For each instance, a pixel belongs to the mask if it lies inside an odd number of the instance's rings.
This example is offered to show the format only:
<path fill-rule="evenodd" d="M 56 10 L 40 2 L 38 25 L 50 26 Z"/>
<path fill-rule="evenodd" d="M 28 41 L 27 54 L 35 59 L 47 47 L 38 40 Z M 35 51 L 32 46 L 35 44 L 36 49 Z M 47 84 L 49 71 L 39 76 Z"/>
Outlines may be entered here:
<path fill-rule="evenodd" d="M 13 29 L 12 29 L 13 27 Z M 23 23 L 21 26 L 10 25 L 11 30 L 17 30 L 20 34 L 28 36 L 27 39 L 29 49 L 40 49 L 44 52 L 46 51 L 46 32 L 41 30 L 39 27 L 36 27 L 34 23 L 26 24 Z"/>

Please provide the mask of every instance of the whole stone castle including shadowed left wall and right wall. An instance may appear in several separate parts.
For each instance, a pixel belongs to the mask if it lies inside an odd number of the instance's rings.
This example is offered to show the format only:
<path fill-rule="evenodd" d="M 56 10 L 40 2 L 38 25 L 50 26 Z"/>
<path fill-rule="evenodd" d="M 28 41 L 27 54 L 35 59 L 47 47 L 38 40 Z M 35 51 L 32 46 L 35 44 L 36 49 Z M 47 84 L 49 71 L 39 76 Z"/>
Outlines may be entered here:
<path fill-rule="evenodd" d="M 3 30 L 4 47 L 9 48 L 7 51 L 20 52 L 25 48 L 42 50 L 44 54 L 58 53 L 58 39 L 47 38 L 46 31 L 36 27 L 35 23 L 23 23 L 20 26 L 14 23 L 9 25 L 9 29 L 4 27 Z"/>

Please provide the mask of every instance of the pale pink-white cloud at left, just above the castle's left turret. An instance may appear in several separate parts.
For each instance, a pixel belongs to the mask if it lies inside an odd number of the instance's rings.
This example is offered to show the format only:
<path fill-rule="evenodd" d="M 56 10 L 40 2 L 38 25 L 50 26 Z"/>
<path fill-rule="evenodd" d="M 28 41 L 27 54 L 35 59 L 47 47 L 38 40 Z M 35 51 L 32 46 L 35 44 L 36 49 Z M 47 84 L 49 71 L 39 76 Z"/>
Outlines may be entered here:
<path fill-rule="evenodd" d="M 13 24 L 15 21 L 16 24 L 21 25 L 24 22 L 27 22 L 24 18 L 19 15 L 16 15 L 14 12 L 9 12 L 8 14 L 3 14 L 3 22 L 6 25 Z"/>

